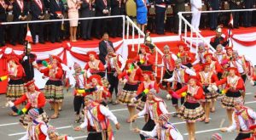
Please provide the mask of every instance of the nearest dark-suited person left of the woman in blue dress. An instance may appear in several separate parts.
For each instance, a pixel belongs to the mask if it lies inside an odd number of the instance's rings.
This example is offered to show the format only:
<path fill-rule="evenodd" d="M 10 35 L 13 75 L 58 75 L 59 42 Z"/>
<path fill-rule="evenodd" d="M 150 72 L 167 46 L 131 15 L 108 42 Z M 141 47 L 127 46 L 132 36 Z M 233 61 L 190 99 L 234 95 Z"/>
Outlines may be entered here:
<path fill-rule="evenodd" d="M 122 15 L 124 14 L 125 4 L 124 0 L 111 0 L 111 15 Z M 122 18 L 112 19 L 112 33 L 110 36 L 122 36 Z"/>

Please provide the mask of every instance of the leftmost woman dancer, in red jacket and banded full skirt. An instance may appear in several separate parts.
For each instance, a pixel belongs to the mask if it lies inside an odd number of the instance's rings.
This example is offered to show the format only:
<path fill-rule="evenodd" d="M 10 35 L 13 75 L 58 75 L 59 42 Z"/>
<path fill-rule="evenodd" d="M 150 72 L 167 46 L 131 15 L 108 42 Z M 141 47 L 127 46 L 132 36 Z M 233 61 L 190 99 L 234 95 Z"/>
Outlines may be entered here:
<path fill-rule="evenodd" d="M 16 58 L 15 56 L 9 57 L 9 59 L 7 59 L 7 62 L 8 62 L 8 72 L 9 72 L 9 82 L 8 82 L 8 87 L 6 92 L 6 98 L 7 98 L 7 101 L 14 102 L 17 98 L 20 98 L 26 92 L 26 87 L 24 87 L 25 83 L 22 79 L 26 75 L 18 58 Z M 17 114 L 15 112 L 11 112 L 9 113 L 9 115 L 16 116 Z"/>

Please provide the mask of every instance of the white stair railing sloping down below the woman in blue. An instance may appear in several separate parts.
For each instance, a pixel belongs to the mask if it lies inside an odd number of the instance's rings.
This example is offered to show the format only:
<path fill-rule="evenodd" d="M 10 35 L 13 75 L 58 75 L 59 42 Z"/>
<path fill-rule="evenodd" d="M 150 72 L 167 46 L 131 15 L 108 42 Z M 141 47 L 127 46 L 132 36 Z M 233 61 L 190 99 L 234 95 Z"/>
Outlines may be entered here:
<path fill-rule="evenodd" d="M 126 28 L 127 28 L 127 32 L 126 32 L 126 40 L 128 40 L 129 39 L 129 31 L 130 31 L 130 28 L 131 28 L 131 45 L 132 45 L 132 47 L 131 47 L 131 51 L 135 51 L 135 48 L 134 48 L 134 44 L 137 44 L 137 52 L 139 51 L 139 49 L 140 49 L 140 43 L 141 43 L 141 36 L 143 36 L 143 38 L 145 38 L 145 34 L 144 34 L 144 32 L 143 31 L 141 31 L 141 29 L 128 17 L 128 16 L 126 16 Z M 138 32 L 138 39 L 137 39 L 137 41 L 138 42 L 134 42 L 136 39 L 135 39 L 135 30 Z M 142 38 L 142 39 L 143 39 Z M 153 43 L 153 42 L 152 42 Z M 154 45 L 155 46 L 155 45 Z M 157 46 L 155 46 L 155 63 L 157 63 L 158 62 L 158 55 L 160 54 L 160 56 L 162 56 L 162 55 L 164 55 L 164 53 L 162 53 L 161 51 L 160 51 L 160 49 L 159 48 L 157 48 Z M 155 69 L 154 69 L 154 72 L 155 72 L 155 76 L 157 76 L 157 66 L 155 66 Z M 163 67 L 161 68 L 161 71 L 160 71 L 160 81 L 162 81 L 162 77 L 163 77 Z"/>

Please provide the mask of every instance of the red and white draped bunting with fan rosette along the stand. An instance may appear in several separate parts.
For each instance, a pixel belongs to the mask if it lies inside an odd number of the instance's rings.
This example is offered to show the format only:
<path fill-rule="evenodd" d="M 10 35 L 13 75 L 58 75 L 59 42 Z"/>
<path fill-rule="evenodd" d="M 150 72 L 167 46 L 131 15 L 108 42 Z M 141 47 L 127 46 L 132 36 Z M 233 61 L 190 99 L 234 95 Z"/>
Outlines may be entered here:
<path fill-rule="evenodd" d="M 125 42 L 113 42 L 113 48 L 117 53 L 121 54 L 124 59 L 127 59 L 128 48 Z M 23 53 L 23 50 L 24 48 L 13 48 L 13 53 L 20 55 Z M 82 68 L 84 68 L 86 62 L 89 61 L 89 56 L 87 55 L 87 52 L 89 51 L 95 51 L 96 53 L 99 53 L 99 47 L 84 46 L 84 44 L 79 45 L 79 43 L 73 44 L 72 42 L 62 42 L 60 43 L 60 47 L 53 47 L 50 45 L 44 45 L 43 47 L 32 47 L 32 53 L 37 54 L 37 59 L 49 59 L 49 54 L 59 56 L 62 59 L 63 69 L 65 70 L 69 70 L 69 68 L 73 69 L 74 62 L 77 62 L 81 65 Z M 5 48 L 1 48 L 0 58 L 2 58 L 4 52 Z M 42 79 L 42 76 L 43 75 L 40 74 L 38 70 L 35 70 L 36 85 L 39 88 L 44 88 L 44 84 L 46 82 L 46 80 Z"/>

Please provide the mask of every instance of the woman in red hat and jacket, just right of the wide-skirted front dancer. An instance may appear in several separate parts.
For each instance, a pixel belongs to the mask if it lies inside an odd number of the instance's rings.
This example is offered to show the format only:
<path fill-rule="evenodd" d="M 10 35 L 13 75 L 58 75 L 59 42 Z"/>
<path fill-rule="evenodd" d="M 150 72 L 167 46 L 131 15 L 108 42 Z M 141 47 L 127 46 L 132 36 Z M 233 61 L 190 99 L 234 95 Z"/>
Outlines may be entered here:
<path fill-rule="evenodd" d="M 205 123 L 209 123 L 210 105 L 212 104 L 212 111 L 213 109 L 215 111 L 214 103 L 215 98 L 218 97 L 218 92 L 208 87 L 213 82 L 218 81 L 218 77 L 213 71 L 210 70 L 209 63 L 202 64 L 202 67 L 204 68 L 204 70 L 197 74 L 197 79 L 199 80 L 199 83 L 201 84 L 201 87 L 203 87 L 203 90 L 205 92 L 205 99 L 202 101 L 202 106 L 205 109 L 206 113 Z"/>

